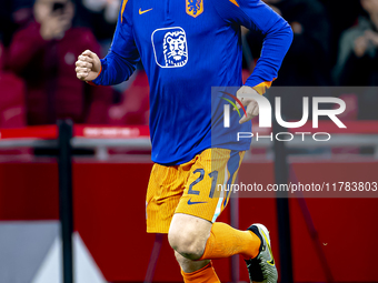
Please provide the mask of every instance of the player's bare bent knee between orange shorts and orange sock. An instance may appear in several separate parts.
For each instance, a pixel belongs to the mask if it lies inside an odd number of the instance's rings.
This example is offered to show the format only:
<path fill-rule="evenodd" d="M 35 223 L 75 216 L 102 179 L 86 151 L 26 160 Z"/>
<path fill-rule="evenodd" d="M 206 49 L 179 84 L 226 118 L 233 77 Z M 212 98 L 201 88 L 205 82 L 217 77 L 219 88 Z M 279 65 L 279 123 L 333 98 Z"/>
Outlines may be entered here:
<path fill-rule="evenodd" d="M 206 240 L 196 235 L 196 231 L 185 228 L 171 228 L 168 233 L 170 246 L 189 260 L 198 260 L 205 251 Z"/>

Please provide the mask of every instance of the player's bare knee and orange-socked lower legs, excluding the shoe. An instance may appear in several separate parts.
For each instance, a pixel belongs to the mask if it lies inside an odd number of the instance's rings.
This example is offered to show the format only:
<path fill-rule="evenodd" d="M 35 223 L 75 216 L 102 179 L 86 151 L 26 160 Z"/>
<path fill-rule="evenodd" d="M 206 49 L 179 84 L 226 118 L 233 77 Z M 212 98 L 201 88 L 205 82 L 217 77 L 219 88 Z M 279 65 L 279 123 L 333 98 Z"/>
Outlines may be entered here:
<path fill-rule="evenodd" d="M 256 257 L 260 240 L 253 235 L 225 223 L 211 224 L 197 216 L 177 213 L 172 219 L 168 240 L 186 283 L 218 283 L 220 281 L 210 259 L 233 254 L 243 254 L 246 259 Z"/>

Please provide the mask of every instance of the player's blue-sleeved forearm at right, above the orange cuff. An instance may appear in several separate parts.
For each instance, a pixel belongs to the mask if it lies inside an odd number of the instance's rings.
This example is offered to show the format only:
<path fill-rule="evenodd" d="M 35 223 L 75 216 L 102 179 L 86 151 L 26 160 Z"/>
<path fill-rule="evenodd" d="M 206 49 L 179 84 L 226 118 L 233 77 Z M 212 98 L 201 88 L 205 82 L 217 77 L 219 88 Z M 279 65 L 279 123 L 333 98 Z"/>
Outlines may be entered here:
<path fill-rule="evenodd" d="M 246 85 L 255 87 L 262 82 L 271 82 L 282 64 L 284 58 L 292 41 L 290 26 L 281 19 L 268 32 L 263 41 L 261 57 L 253 73 L 248 78 Z"/>

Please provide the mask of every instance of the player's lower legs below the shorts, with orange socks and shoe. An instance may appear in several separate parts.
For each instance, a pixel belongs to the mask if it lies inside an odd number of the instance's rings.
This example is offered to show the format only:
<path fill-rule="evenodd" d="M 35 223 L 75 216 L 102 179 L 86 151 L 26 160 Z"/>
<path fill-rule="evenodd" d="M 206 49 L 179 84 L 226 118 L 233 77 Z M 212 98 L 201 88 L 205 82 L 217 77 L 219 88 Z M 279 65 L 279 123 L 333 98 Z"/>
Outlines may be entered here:
<path fill-rule="evenodd" d="M 202 239 L 207 234 L 206 231 L 209 231 L 208 224 L 206 220 L 192 215 L 173 216 L 168 239 L 175 249 L 186 283 L 220 282 L 210 260 L 235 254 L 243 255 L 251 282 L 277 282 L 269 232 L 263 225 L 253 224 L 247 231 L 240 231 L 216 222 L 203 244 Z M 201 250 L 203 252 L 199 252 Z M 199 256 L 200 254 L 202 255 Z"/>

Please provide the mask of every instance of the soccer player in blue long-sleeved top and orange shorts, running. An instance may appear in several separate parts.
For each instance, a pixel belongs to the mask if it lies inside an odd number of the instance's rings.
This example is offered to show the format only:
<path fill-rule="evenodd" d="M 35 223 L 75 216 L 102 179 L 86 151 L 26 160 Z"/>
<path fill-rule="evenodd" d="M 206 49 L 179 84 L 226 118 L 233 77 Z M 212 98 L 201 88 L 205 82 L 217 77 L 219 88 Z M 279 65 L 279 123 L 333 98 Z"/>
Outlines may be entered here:
<path fill-rule="evenodd" d="M 240 27 L 265 34 L 261 57 L 241 82 Z M 250 132 L 258 114 L 252 98 L 231 111 L 229 133 L 213 109 L 211 87 L 241 87 L 237 95 L 263 94 L 277 78 L 292 40 L 289 24 L 260 0 L 123 0 L 108 55 L 87 50 L 77 77 L 97 85 L 127 80 L 141 60 L 150 84 L 150 133 L 155 162 L 147 191 L 147 232 L 168 233 L 185 282 L 220 282 L 210 260 L 241 254 L 252 282 L 277 282 L 267 229 L 247 231 L 216 222 L 250 146 L 235 132 Z M 240 107 L 240 105 L 239 105 Z M 222 127 L 221 127 L 222 128 Z"/>

